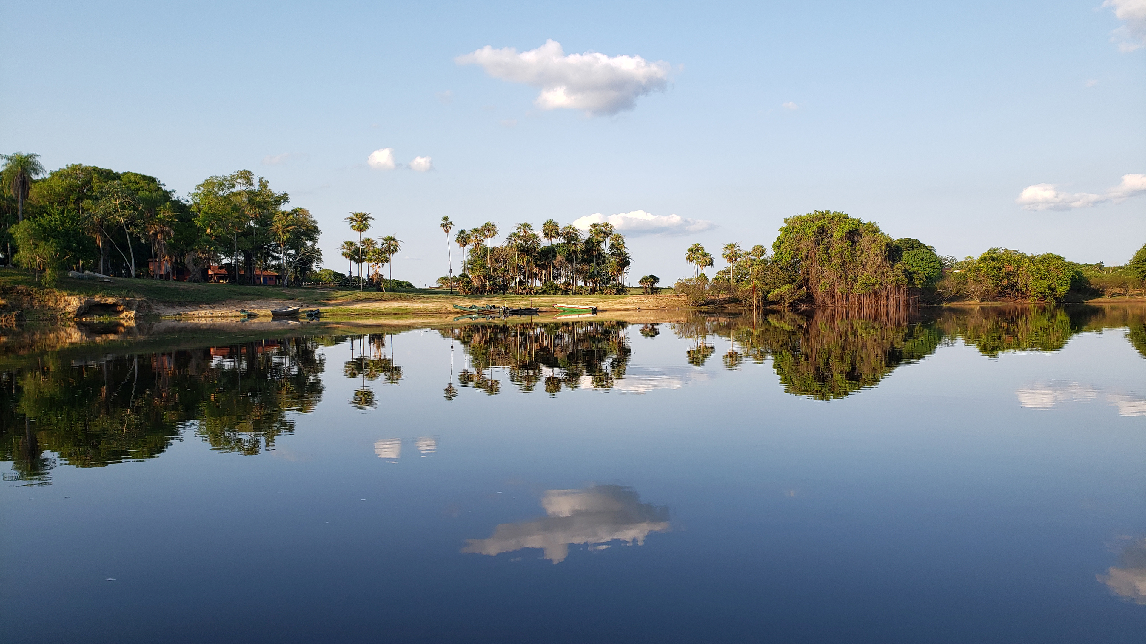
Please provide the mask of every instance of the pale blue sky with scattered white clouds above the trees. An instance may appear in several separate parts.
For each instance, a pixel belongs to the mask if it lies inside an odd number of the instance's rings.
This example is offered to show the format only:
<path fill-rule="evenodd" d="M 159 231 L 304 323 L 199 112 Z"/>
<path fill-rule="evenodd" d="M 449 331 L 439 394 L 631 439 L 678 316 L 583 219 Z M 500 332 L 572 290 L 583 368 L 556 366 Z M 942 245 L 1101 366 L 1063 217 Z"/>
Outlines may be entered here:
<path fill-rule="evenodd" d="M 609 220 L 630 283 L 814 210 L 958 258 L 1146 243 L 1146 0 L 0 0 L 0 151 L 181 196 L 251 170 L 324 266 L 367 211 L 416 285 L 442 215 Z"/>

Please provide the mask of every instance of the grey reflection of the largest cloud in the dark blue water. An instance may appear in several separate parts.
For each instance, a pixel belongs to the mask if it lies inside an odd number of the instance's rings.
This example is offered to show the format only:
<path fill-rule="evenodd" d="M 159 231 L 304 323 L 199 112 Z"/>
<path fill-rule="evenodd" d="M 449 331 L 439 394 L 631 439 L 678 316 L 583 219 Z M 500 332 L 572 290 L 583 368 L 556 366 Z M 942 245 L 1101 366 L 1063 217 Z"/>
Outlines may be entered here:
<path fill-rule="evenodd" d="M 568 557 L 571 543 L 592 550 L 609 548 L 610 541 L 643 545 L 652 532 L 667 532 L 668 508 L 641 503 L 631 488 L 606 485 L 587 489 L 550 489 L 541 498 L 545 517 L 517 524 L 501 524 L 489 539 L 466 540 L 462 552 L 496 556 L 523 548 L 541 548 L 543 557 L 559 564 Z"/>

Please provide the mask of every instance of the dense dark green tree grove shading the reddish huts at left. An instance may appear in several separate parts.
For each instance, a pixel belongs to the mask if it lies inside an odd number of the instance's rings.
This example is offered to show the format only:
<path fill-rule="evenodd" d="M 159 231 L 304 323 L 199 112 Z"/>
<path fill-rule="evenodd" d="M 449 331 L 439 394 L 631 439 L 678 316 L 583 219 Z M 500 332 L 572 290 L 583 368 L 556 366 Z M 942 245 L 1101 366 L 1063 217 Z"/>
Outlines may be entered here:
<path fill-rule="evenodd" d="M 49 276 L 65 269 L 202 281 L 259 273 L 303 281 L 321 262 L 319 227 L 250 171 L 211 176 L 187 198 L 155 176 L 72 164 L 46 173 L 38 155 L 0 155 L 3 264 Z"/>

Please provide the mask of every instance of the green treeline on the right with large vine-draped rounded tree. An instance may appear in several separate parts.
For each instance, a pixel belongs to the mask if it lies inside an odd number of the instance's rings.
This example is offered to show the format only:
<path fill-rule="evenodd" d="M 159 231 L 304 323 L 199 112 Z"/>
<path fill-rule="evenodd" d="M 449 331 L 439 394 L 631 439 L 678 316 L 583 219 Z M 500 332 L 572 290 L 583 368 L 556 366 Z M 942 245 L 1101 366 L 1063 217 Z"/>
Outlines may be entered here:
<path fill-rule="evenodd" d="M 912 300 L 1061 301 L 1072 291 L 1131 294 L 1143 292 L 1146 278 L 1146 245 L 1125 266 L 1113 267 L 1010 249 L 957 260 L 830 211 L 785 219 L 771 254 L 763 245 L 745 251 L 731 243 L 721 257 L 727 266 L 709 278 L 699 269 L 713 266 L 714 258 L 700 244 L 690 246 L 685 259 L 698 273 L 678 281 L 675 291 L 698 305 L 882 307 Z"/>

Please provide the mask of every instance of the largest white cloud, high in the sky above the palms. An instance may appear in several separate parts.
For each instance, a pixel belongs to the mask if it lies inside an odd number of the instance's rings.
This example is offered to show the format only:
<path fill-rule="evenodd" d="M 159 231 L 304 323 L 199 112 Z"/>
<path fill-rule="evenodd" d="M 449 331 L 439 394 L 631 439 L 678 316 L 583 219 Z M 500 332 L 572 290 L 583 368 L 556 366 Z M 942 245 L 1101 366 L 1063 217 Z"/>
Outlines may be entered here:
<path fill-rule="evenodd" d="M 486 45 L 455 61 L 479 64 L 494 78 L 540 88 L 534 104 L 543 110 L 583 110 L 590 116 L 631 110 L 641 96 L 664 92 L 670 69 L 664 61 L 649 62 L 641 56 L 565 55 L 554 40 L 521 53 Z"/>

